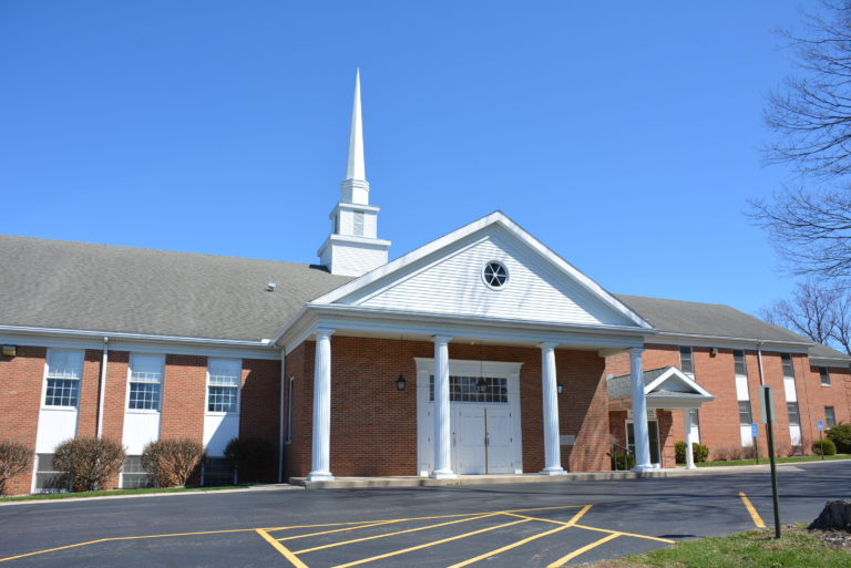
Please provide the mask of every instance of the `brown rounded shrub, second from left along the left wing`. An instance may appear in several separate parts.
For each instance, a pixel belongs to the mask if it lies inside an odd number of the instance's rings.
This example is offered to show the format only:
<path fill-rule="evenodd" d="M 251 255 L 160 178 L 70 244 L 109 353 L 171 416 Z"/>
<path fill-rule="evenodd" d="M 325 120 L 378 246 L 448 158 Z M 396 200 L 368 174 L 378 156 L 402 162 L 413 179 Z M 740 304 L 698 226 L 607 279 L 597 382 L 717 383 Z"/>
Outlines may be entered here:
<path fill-rule="evenodd" d="M 124 446 L 106 438 L 76 437 L 62 442 L 53 451 L 53 467 L 64 474 L 71 490 L 104 488 L 110 477 L 121 471 Z"/>

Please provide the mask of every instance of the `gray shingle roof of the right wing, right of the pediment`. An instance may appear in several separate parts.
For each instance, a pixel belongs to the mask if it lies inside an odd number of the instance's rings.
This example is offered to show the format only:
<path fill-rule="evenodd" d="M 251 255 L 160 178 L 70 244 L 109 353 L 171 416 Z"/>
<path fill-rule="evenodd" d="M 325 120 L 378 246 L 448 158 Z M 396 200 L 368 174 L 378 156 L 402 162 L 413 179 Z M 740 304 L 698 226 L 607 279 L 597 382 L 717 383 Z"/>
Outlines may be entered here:
<path fill-rule="evenodd" d="M 812 343 L 779 326 L 718 303 L 663 300 L 640 296 L 615 295 L 629 309 L 649 321 L 659 331 L 691 333 L 722 338 L 761 339 Z"/>

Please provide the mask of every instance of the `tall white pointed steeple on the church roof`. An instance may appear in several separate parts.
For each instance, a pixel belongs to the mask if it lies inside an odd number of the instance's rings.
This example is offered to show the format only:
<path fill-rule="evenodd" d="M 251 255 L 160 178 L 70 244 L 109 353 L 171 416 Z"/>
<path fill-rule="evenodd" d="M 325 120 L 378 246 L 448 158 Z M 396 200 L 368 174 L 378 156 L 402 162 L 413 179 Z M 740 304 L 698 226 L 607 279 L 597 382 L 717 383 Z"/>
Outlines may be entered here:
<path fill-rule="evenodd" d="M 369 205 L 366 172 L 358 70 L 355 75 L 346 179 L 340 183 L 340 203 L 330 215 L 331 234 L 319 249 L 320 262 L 334 275 L 361 276 L 387 264 L 390 241 L 378 238 L 379 208 Z"/>

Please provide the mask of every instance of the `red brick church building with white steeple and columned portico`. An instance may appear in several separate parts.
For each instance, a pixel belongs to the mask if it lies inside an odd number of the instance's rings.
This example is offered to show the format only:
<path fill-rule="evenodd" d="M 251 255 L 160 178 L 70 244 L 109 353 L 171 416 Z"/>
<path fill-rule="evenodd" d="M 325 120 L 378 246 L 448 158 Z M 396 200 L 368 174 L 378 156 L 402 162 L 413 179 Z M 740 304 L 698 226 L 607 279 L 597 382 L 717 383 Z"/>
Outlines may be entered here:
<path fill-rule="evenodd" d="M 35 455 L 11 493 L 50 490 L 74 436 L 120 441 L 114 485 L 135 487 L 163 438 L 204 444 L 207 484 L 234 478 L 235 437 L 275 448 L 269 482 L 453 479 L 675 467 L 677 441 L 747 456 L 753 423 L 765 455 L 760 385 L 778 452 L 851 420 L 848 355 L 727 306 L 613 295 L 501 211 L 389 261 L 379 213 L 358 80 L 317 265 L 0 236 L 0 440 Z"/>

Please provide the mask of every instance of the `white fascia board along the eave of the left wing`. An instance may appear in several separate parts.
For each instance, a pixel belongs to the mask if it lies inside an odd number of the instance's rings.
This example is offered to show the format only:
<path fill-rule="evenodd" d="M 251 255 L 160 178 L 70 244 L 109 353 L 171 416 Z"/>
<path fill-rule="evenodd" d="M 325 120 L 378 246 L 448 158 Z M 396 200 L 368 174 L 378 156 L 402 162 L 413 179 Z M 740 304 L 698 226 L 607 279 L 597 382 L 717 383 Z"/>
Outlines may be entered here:
<path fill-rule="evenodd" d="M 0 342 L 17 345 L 103 349 L 109 338 L 111 351 L 222 355 L 240 359 L 278 359 L 279 350 L 269 340 L 247 341 L 180 335 L 152 335 L 112 331 L 90 331 L 25 326 L 0 326 Z"/>

